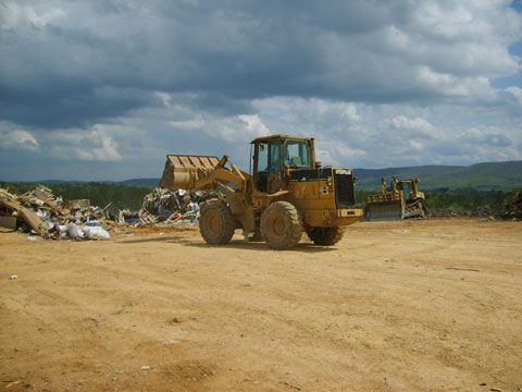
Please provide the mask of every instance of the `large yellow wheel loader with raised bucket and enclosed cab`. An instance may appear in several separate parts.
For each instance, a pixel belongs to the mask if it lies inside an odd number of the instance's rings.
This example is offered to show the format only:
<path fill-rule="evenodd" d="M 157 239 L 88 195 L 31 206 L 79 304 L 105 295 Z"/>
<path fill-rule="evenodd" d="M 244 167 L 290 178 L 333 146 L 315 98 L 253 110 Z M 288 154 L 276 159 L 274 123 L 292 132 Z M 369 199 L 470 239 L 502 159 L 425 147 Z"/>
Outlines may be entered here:
<path fill-rule="evenodd" d="M 201 205 L 199 229 L 208 244 L 227 244 L 236 229 L 247 241 L 289 249 L 306 232 L 315 245 L 334 245 L 363 216 L 355 208 L 351 169 L 322 167 L 314 138 L 273 135 L 251 142 L 250 170 L 228 156 L 167 155 L 161 187 L 216 192 Z M 227 163 L 228 167 L 225 167 Z"/>

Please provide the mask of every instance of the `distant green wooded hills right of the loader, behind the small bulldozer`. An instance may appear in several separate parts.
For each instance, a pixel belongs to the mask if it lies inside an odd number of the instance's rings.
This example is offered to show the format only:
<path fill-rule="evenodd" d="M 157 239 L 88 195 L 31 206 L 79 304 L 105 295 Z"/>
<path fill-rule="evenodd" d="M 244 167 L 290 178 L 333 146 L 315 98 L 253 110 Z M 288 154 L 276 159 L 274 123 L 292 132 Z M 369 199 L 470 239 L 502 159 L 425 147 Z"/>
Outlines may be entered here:
<path fill-rule="evenodd" d="M 421 189 L 474 188 L 481 191 L 511 191 L 522 187 L 522 161 L 486 162 L 470 167 L 424 166 L 388 169 L 355 169 L 359 189 L 377 189 L 381 177 L 389 182 L 391 175 L 400 179 L 421 179 Z"/>

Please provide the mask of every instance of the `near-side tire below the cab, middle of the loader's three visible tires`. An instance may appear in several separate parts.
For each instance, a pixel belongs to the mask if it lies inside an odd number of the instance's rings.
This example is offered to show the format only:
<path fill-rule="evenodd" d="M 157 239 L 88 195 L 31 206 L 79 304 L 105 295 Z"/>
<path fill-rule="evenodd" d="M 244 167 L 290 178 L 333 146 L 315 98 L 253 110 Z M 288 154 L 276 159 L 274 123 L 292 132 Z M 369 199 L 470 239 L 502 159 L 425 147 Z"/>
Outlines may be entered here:
<path fill-rule="evenodd" d="M 296 207 L 288 201 L 274 201 L 261 216 L 261 234 L 273 249 L 289 249 L 302 235 L 302 221 Z"/>

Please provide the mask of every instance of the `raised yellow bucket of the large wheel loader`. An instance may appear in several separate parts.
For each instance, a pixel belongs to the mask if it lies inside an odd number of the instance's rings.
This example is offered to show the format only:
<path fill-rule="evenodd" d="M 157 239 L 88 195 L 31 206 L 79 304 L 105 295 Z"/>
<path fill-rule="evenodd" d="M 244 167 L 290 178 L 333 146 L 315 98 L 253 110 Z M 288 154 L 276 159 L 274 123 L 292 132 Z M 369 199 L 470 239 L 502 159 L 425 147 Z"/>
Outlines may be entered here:
<path fill-rule="evenodd" d="M 160 187 L 190 191 L 199 174 L 212 171 L 219 162 L 217 157 L 167 155 Z"/>

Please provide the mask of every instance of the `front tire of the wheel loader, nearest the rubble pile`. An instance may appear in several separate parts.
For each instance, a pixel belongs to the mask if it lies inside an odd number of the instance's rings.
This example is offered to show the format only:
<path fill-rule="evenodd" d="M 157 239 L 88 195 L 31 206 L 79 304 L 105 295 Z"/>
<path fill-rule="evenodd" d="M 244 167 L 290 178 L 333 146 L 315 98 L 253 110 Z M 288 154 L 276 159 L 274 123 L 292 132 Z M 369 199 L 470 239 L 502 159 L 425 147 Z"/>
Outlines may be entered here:
<path fill-rule="evenodd" d="M 236 226 L 236 218 L 224 203 L 211 201 L 201 209 L 199 232 L 207 244 L 228 244 Z"/>

